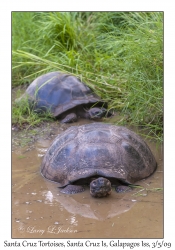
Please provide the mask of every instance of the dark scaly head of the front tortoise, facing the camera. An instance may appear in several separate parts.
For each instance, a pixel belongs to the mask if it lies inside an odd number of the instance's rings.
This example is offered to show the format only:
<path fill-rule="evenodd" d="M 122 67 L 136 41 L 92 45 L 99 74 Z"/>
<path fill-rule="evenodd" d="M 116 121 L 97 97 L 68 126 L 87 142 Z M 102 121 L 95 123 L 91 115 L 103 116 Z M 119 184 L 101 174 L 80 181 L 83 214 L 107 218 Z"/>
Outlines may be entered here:
<path fill-rule="evenodd" d="M 90 183 L 90 194 L 95 198 L 105 197 L 111 194 L 111 182 L 103 177 L 99 177 Z"/>

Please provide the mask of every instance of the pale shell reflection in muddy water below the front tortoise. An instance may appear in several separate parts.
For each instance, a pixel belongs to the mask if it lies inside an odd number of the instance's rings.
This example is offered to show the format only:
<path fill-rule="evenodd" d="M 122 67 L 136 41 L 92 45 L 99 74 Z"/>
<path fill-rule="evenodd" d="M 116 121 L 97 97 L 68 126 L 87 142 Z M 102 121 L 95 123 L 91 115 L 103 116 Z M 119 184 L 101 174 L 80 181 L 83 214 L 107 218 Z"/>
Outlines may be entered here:
<path fill-rule="evenodd" d="M 106 218 L 127 212 L 136 204 L 136 200 L 133 201 L 131 199 L 131 193 L 123 195 L 113 191 L 110 197 L 102 199 L 92 198 L 88 190 L 86 190 L 85 193 L 65 195 L 59 192 L 56 183 L 45 181 L 49 190 L 43 192 L 46 202 L 48 202 L 49 197 L 49 201 L 51 202 L 52 200 L 52 205 L 59 206 L 61 211 L 63 211 L 64 208 L 73 215 L 105 220 Z M 55 202 L 57 202 L 57 204 Z"/>

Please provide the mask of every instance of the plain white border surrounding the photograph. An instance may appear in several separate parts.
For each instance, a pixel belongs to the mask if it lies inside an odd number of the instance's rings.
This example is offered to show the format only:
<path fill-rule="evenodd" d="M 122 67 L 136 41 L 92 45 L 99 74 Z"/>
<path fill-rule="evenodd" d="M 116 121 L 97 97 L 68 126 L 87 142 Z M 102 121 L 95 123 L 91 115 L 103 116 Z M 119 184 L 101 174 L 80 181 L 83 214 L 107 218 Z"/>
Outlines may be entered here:
<path fill-rule="evenodd" d="M 0 3 L 0 166 L 1 166 L 1 246 L 11 240 L 11 11 L 164 11 L 164 241 L 175 246 L 175 8 L 174 1 L 37 1 L 6 0 Z M 28 240 L 30 241 L 30 240 Z M 32 241 L 32 240 L 31 240 Z M 77 241 L 77 240 L 74 240 Z M 83 240 L 82 240 L 83 241 Z M 97 242 L 97 240 L 91 240 Z M 134 240 L 126 240 L 126 242 Z M 26 247 L 25 249 L 27 249 Z M 172 246 L 173 248 L 173 246 Z M 129 248 L 127 248 L 129 249 Z M 139 248 L 142 249 L 142 248 Z M 145 249 L 145 248 L 143 248 Z M 162 248 L 166 249 L 166 248 Z"/>

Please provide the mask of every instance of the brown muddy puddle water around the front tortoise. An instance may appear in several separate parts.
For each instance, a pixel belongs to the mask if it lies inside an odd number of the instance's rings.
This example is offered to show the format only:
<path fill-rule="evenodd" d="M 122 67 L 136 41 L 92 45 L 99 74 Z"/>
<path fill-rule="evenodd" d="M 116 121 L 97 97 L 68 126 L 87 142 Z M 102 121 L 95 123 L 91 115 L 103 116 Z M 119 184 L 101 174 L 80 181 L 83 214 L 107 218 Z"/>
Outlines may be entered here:
<path fill-rule="evenodd" d="M 87 121 L 81 121 L 81 124 Z M 80 122 L 79 122 L 80 124 Z M 162 149 L 147 142 L 157 162 L 156 172 L 125 194 L 115 191 L 94 199 L 89 190 L 65 195 L 44 179 L 39 167 L 48 146 L 68 125 L 44 126 L 28 135 L 13 132 L 13 238 L 162 238 Z M 157 189 L 156 189 L 157 188 Z"/>

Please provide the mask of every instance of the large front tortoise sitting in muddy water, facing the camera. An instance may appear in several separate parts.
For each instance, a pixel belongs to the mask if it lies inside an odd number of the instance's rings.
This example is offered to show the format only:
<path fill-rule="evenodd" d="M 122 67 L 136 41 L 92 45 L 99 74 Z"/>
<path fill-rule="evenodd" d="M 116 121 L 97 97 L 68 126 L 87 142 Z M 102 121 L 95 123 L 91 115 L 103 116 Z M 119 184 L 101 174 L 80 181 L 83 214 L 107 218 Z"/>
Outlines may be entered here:
<path fill-rule="evenodd" d="M 62 187 L 82 192 L 90 184 L 93 197 L 111 193 L 111 185 L 133 184 L 150 176 L 156 160 L 147 144 L 125 127 L 91 123 L 72 126 L 59 134 L 47 150 L 41 174 Z"/>

